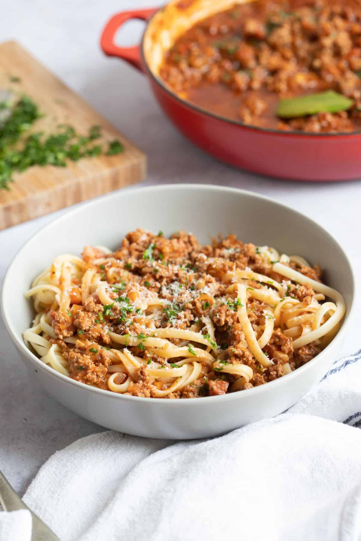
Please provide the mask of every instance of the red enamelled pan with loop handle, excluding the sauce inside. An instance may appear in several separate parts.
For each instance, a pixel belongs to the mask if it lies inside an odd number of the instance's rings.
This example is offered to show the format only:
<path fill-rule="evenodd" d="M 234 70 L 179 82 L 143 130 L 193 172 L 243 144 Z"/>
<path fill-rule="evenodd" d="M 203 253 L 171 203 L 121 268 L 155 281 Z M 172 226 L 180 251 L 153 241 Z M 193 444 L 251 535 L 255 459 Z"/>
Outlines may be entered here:
<path fill-rule="evenodd" d="M 173 0 L 161 9 L 123 11 L 111 17 L 101 36 L 108 56 L 119 56 L 146 74 L 162 109 L 176 127 L 207 153 L 242 169 L 289 180 L 331 181 L 361 177 L 361 133 L 303 134 L 253 128 L 216 116 L 181 100 L 156 75 L 165 35 L 205 6 L 205 0 Z M 229 0 L 211 3 L 216 11 L 227 9 Z M 208 2 L 209 5 L 209 2 Z M 205 18 L 208 14 L 202 15 Z M 129 19 L 147 22 L 142 42 L 118 47 L 114 36 Z M 158 55 L 158 56 L 157 56 Z"/>

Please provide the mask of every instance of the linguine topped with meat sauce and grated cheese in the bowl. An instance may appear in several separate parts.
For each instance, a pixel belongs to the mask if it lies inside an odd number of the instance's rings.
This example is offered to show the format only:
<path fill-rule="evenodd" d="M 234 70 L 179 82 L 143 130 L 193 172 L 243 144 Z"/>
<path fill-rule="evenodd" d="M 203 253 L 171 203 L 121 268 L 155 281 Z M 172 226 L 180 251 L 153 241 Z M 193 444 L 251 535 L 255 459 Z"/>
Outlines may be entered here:
<path fill-rule="evenodd" d="M 38 275 L 24 340 L 57 372 L 114 393 L 237 392 L 291 373 L 337 333 L 345 302 L 319 276 L 234 235 L 202 248 L 137 229 L 116 252 L 87 246 Z"/>

